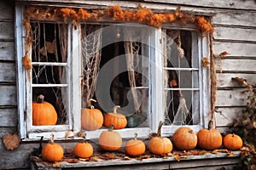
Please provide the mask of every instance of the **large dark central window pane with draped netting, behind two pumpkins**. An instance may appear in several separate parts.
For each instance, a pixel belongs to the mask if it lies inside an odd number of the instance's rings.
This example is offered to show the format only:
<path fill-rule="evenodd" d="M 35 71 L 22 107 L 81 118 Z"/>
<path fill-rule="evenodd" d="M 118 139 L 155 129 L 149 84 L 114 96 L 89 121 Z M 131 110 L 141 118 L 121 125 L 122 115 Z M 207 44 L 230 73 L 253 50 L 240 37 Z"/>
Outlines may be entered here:
<path fill-rule="evenodd" d="M 120 105 L 117 111 L 126 116 L 127 127 L 148 127 L 148 62 L 143 62 L 148 47 L 134 34 L 136 28 L 82 25 L 82 105 L 96 99 L 95 107 L 103 114 Z"/>

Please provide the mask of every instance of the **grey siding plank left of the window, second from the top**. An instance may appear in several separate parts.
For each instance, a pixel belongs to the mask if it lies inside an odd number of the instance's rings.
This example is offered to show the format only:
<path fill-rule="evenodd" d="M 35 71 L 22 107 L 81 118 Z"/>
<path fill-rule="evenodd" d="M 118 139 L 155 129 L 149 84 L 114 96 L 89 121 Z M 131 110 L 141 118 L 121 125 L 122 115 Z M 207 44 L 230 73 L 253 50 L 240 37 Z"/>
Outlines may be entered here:
<path fill-rule="evenodd" d="M 0 22 L 0 39 L 14 40 L 15 39 L 15 24 L 14 22 Z"/>

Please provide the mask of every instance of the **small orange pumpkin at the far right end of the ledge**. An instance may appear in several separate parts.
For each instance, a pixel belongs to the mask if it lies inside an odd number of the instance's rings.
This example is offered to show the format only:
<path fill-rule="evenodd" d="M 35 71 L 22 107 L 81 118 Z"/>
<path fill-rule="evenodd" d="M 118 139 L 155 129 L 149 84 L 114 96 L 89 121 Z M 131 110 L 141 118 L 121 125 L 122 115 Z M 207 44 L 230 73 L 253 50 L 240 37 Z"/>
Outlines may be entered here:
<path fill-rule="evenodd" d="M 239 150 L 242 147 L 242 139 L 237 134 L 226 134 L 223 139 L 224 147 L 228 150 Z"/>

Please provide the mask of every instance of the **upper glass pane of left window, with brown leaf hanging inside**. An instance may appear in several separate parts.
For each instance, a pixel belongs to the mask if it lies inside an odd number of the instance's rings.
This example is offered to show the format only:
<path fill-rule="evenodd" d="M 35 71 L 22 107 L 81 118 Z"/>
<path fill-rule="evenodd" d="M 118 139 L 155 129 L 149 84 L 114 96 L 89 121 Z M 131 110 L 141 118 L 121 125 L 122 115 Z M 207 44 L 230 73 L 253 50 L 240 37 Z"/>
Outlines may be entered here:
<path fill-rule="evenodd" d="M 67 25 L 32 22 L 32 62 L 67 61 Z"/>

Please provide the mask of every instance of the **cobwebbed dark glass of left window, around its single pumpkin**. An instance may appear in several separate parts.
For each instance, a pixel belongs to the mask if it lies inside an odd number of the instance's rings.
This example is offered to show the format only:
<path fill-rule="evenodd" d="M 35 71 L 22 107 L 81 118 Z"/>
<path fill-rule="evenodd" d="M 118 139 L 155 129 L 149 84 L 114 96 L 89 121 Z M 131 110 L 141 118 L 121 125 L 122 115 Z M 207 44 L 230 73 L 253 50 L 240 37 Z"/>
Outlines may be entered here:
<path fill-rule="evenodd" d="M 57 124 L 67 124 L 67 87 L 52 86 L 66 84 L 66 67 L 58 64 L 67 62 L 67 25 L 42 22 L 31 23 L 32 35 L 32 100 L 39 94 L 44 95 L 55 107 L 58 114 Z M 41 64 L 40 64 L 41 63 Z"/>

